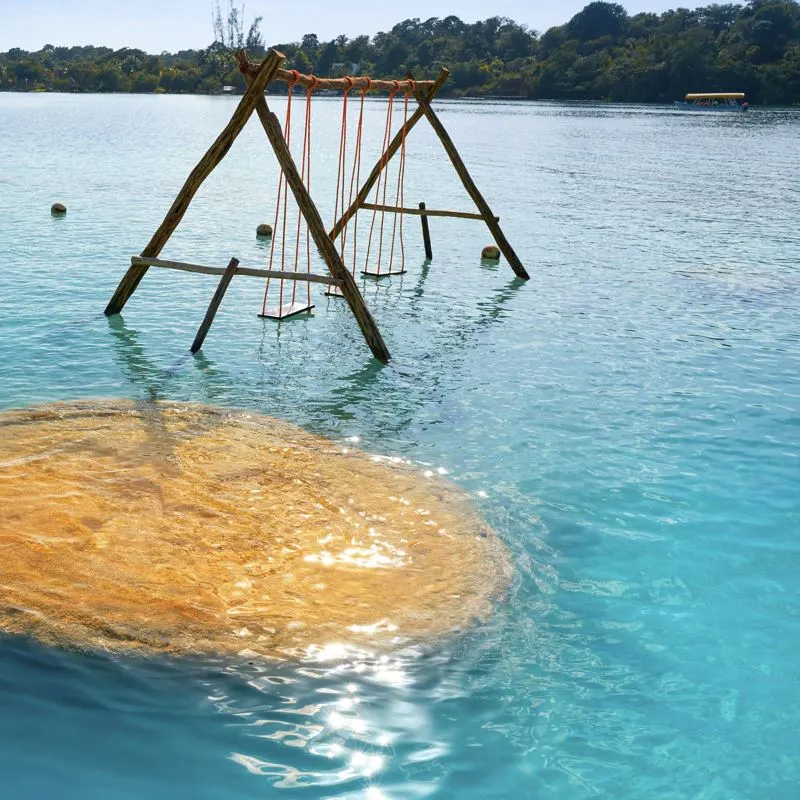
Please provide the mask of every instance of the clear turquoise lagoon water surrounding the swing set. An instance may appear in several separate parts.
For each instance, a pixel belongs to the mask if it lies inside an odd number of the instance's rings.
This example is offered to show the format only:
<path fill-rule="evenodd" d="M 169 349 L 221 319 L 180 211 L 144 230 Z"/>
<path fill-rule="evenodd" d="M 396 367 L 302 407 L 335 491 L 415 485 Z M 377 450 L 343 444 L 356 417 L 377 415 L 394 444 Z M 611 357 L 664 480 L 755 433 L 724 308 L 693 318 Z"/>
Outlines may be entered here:
<path fill-rule="evenodd" d="M 442 104 L 532 280 L 481 267 L 469 221 L 432 220 L 424 268 L 408 221 L 408 274 L 365 289 L 381 368 L 319 290 L 276 327 L 235 281 L 193 360 L 213 280 L 151 270 L 102 316 L 233 102 L 0 94 L 0 407 L 157 396 L 359 436 L 474 493 L 514 585 L 482 628 L 383 662 L 4 640 L 4 793 L 795 797 L 800 115 Z M 329 219 L 338 107 L 317 108 Z M 424 126 L 409 152 L 407 202 L 469 209 Z M 263 262 L 276 180 L 253 124 L 164 256 Z"/>

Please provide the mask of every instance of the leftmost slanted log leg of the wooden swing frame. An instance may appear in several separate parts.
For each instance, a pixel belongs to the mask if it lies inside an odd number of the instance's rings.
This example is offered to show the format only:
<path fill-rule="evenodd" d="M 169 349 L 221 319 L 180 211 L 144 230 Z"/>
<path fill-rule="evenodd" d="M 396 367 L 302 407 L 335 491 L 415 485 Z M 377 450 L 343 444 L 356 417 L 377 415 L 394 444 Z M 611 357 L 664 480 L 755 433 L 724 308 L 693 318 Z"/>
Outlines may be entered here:
<path fill-rule="evenodd" d="M 277 50 L 270 50 L 269 55 L 264 59 L 260 67 L 253 75 L 247 91 L 242 95 L 239 105 L 233 112 L 233 116 L 225 126 L 224 130 L 214 141 L 214 144 L 208 149 L 206 154 L 200 159 L 197 166 L 191 171 L 186 183 L 178 192 L 175 202 L 172 204 L 167 216 L 164 217 L 163 222 L 158 227 L 158 230 L 153 234 L 153 238 L 147 244 L 147 247 L 142 250 L 142 256 L 145 258 L 156 258 L 161 252 L 164 245 L 169 240 L 175 228 L 183 219 L 186 209 L 189 208 L 189 203 L 197 193 L 197 190 L 203 184 L 203 181 L 211 174 L 214 167 L 219 164 L 225 157 L 231 145 L 236 140 L 236 137 L 244 128 L 247 120 L 250 119 L 253 110 L 255 109 L 256 102 L 260 97 L 264 96 L 264 90 L 272 77 L 275 75 L 276 70 L 283 63 L 286 56 L 279 53 Z M 114 292 L 111 300 L 106 306 L 106 316 L 118 314 L 128 302 L 130 296 L 136 291 L 142 278 L 147 272 L 147 267 L 131 266 L 125 273 L 125 276 L 120 281 L 117 290 Z"/>

